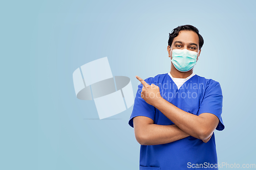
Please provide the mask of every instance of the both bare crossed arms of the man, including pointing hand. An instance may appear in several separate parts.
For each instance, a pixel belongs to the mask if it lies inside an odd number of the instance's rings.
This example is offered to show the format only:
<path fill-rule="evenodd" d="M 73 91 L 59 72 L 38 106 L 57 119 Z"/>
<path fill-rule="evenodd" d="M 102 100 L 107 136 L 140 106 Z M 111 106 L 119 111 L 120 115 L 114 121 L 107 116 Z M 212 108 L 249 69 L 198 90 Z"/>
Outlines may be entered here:
<path fill-rule="evenodd" d="M 155 106 L 175 125 L 156 125 L 151 118 L 145 116 L 134 117 L 135 137 L 140 144 L 154 145 L 173 142 L 187 136 L 194 136 L 207 142 L 216 129 L 219 118 L 211 113 L 202 113 L 199 116 L 185 112 L 168 101 L 164 100 L 159 87 L 148 85 L 143 79 L 136 77 L 142 84 L 141 97 L 150 105 Z M 154 93 L 155 98 L 148 98 Z"/>

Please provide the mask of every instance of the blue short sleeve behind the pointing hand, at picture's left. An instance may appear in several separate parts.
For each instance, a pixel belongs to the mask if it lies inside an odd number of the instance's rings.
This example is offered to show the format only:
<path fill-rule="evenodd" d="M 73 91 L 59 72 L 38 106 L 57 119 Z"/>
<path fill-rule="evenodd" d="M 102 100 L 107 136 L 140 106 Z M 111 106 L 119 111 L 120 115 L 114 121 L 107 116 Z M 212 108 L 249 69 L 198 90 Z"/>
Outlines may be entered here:
<path fill-rule="evenodd" d="M 147 78 L 144 81 L 147 84 L 152 84 L 152 79 L 153 78 Z M 141 90 L 142 90 L 143 85 L 140 83 L 138 85 L 138 90 L 135 96 L 134 100 L 134 106 L 133 106 L 133 111 L 129 120 L 129 125 L 133 127 L 133 118 L 136 116 L 146 116 L 155 121 L 155 107 L 146 103 L 144 99 L 141 98 Z"/>

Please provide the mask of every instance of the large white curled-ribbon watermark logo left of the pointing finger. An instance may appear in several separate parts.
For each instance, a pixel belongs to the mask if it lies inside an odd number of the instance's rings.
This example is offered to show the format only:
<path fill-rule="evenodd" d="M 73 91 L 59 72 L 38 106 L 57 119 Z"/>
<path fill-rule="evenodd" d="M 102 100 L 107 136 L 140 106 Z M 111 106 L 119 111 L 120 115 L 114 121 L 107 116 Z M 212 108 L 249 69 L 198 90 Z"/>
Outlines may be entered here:
<path fill-rule="evenodd" d="M 134 104 L 130 78 L 113 77 L 107 57 L 77 68 L 73 83 L 78 99 L 94 100 L 99 119 L 116 115 Z"/>

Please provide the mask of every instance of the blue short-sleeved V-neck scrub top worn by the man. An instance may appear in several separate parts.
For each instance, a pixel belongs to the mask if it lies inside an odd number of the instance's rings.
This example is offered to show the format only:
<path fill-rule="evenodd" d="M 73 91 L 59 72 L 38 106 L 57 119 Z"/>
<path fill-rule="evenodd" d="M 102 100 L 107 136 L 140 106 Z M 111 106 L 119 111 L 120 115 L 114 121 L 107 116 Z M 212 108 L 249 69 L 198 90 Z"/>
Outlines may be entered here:
<path fill-rule="evenodd" d="M 179 89 L 168 74 L 160 74 L 144 80 L 147 84 L 159 86 L 163 99 L 178 108 L 195 115 L 201 113 L 215 114 L 220 122 L 216 130 L 223 130 L 222 90 L 220 83 L 195 75 L 188 79 Z M 157 125 L 174 125 L 163 113 L 141 98 L 143 85 L 138 85 L 133 111 L 129 125 L 133 127 L 133 118 L 146 116 Z M 218 169 L 215 134 L 204 143 L 193 136 L 157 145 L 141 145 L 140 169 Z"/>

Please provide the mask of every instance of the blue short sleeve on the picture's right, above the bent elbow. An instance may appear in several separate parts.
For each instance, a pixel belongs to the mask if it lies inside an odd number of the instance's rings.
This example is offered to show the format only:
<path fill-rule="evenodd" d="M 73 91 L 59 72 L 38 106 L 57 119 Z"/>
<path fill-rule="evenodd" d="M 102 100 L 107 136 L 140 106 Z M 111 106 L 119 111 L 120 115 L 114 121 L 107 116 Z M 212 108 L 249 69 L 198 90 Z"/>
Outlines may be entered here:
<path fill-rule="evenodd" d="M 215 114 L 220 122 L 216 127 L 216 130 L 222 131 L 225 127 L 222 120 L 222 90 L 219 82 L 209 80 L 206 83 L 203 99 L 198 111 L 198 115 L 202 113 Z"/>

